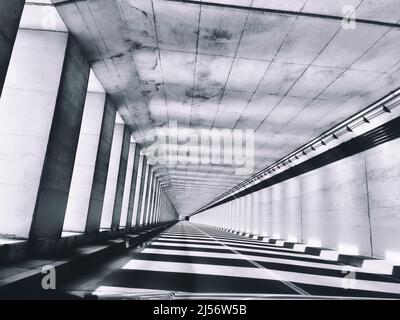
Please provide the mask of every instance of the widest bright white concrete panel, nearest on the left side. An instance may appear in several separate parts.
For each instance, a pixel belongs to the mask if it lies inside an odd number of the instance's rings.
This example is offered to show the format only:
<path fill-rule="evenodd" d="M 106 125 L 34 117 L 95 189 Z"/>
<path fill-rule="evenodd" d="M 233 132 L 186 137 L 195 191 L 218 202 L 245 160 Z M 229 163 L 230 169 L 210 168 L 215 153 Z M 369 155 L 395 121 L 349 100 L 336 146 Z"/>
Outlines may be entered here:
<path fill-rule="evenodd" d="M 67 42 L 66 33 L 18 32 L 0 99 L 2 234 L 29 236 Z"/>

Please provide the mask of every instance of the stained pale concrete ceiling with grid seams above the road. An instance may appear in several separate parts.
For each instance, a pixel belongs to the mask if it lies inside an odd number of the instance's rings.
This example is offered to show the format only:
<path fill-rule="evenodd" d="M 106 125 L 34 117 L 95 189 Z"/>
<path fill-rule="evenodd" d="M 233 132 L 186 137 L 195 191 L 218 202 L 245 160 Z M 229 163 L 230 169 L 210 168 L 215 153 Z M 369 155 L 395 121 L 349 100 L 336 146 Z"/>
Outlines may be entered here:
<path fill-rule="evenodd" d="M 256 172 L 400 86 L 398 0 L 188 2 L 53 0 L 143 145 L 169 121 L 254 129 Z M 355 29 L 337 18 L 345 5 Z M 155 168 L 181 214 L 247 178 L 231 165 Z"/>

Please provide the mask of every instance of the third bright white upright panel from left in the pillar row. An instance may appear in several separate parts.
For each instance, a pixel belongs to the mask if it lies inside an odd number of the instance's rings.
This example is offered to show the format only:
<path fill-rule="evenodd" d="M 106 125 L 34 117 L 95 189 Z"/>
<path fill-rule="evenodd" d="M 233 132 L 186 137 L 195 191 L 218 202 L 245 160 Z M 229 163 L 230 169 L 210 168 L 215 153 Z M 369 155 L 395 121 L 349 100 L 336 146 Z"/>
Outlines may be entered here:
<path fill-rule="evenodd" d="M 101 229 L 110 229 L 114 205 L 117 195 L 118 173 L 121 161 L 122 145 L 124 142 L 125 125 L 116 123 L 111 146 L 110 163 L 107 174 L 106 191 L 104 195 L 103 211 L 101 214 Z"/>

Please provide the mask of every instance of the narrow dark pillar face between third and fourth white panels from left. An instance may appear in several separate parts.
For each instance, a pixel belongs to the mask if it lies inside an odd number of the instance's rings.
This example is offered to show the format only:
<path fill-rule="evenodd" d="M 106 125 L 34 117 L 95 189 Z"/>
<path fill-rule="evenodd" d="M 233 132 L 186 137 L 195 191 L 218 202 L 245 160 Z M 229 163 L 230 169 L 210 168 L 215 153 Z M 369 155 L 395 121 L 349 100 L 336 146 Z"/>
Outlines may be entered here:
<path fill-rule="evenodd" d="M 126 170 L 128 166 L 130 141 L 131 141 L 131 131 L 127 126 L 125 126 L 124 137 L 122 140 L 121 160 L 118 169 L 117 191 L 115 195 L 114 212 L 111 224 L 111 229 L 113 230 L 119 229 L 119 223 L 121 220 L 122 202 L 125 191 Z"/>

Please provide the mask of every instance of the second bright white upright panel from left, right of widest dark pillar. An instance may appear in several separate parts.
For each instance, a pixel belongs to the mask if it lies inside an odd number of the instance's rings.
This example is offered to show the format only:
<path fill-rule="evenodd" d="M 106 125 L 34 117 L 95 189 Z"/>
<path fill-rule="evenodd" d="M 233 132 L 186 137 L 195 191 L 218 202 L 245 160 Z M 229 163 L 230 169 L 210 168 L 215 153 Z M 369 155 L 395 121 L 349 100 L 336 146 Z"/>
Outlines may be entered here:
<path fill-rule="evenodd" d="M 91 75 L 89 83 L 94 81 L 92 77 L 94 75 Z M 105 101 L 106 94 L 104 92 L 88 92 L 86 95 L 74 172 L 64 220 L 64 231 L 85 232 Z"/>

